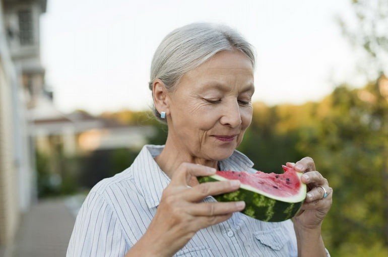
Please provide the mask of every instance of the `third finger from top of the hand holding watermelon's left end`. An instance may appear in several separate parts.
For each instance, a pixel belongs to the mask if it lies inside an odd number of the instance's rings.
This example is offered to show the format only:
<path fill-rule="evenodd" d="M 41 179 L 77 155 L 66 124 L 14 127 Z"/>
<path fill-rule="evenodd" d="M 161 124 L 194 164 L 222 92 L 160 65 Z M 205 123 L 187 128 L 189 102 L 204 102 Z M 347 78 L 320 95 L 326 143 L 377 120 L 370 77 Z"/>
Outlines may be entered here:
<path fill-rule="evenodd" d="M 193 216 L 218 216 L 242 211 L 245 208 L 245 202 L 211 202 L 191 204 L 187 212 Z"/>

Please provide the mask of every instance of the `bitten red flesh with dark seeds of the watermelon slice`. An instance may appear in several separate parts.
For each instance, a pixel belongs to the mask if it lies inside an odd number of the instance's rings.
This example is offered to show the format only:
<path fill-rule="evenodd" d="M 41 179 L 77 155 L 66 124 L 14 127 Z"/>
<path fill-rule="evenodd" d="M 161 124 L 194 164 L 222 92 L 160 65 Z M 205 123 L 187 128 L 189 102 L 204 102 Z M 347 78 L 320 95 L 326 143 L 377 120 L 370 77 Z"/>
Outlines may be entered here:
<path fill-rule="evenodd" d="M 282 165 L 284 173 L 265 173 L 257 171 L 217 171 L 216 174 L 227 179 L 238 179 L 241 184 L 249 185 L 257 190 L 266 192 L 276 197 L 292 197 L 298 195 L 300 178 L 294 168 Z"/>

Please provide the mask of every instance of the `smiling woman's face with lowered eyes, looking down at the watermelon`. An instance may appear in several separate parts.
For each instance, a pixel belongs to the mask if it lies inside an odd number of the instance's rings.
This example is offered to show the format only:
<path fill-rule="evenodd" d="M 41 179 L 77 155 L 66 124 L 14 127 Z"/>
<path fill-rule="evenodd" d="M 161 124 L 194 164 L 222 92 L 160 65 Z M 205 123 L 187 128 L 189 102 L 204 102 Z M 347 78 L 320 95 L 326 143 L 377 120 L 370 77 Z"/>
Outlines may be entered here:
<path fill-rule="evenodd" d="M 251 62 L 238 50 L 218 52 L 168 93 L 169 137 L 191 156 L 228 158 L 252 119 Z"/>

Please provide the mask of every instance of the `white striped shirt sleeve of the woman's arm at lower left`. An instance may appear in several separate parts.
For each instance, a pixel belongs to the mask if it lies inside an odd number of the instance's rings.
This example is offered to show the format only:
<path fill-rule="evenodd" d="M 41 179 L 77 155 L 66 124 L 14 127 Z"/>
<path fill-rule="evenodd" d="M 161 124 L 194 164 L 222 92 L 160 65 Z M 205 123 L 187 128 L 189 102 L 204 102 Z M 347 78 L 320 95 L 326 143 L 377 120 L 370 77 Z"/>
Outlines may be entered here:
<path fill-rule="evenodd" d="M 102 195 L 90 192 L 77 215 L 66 256 L 124 256 L 129 249 L 115 212 Z"/>

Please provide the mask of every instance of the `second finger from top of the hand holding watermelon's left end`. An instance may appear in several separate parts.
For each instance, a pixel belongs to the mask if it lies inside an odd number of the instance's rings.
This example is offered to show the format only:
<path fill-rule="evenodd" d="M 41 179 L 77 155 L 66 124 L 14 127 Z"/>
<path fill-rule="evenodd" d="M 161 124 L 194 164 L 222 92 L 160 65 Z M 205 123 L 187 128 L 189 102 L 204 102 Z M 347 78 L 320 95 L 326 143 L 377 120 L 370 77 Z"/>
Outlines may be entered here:
<path fill-rule="evenodd" d="M 183 193 L 183 199 L 188 202 L 198 202 L 208 196 L 216 196 L 231 192 L 240 187 L 239 180 L 206 182 L 196 185 Z"/>

